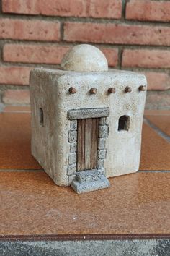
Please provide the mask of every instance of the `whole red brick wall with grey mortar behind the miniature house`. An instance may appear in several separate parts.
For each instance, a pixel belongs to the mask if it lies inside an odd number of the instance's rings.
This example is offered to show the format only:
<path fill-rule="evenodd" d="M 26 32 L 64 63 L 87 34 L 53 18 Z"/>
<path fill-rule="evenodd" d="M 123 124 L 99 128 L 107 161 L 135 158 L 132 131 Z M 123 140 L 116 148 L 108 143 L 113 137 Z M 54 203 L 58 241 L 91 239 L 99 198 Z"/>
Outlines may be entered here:
<path fill-rule="evenodd" d="M 29 104 L 33 67 L 56 68 L 76 43 L 91 43 L 110 68 L 144 72 L 146 108 L 170 105 L 170 1 L 1 0 L 0 95 Z"/>

